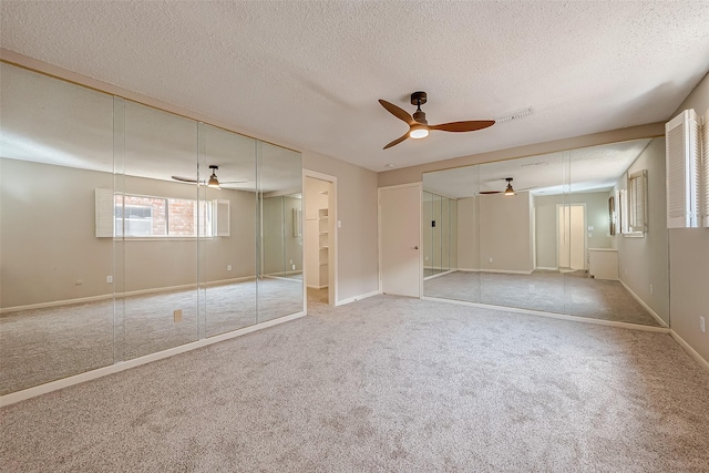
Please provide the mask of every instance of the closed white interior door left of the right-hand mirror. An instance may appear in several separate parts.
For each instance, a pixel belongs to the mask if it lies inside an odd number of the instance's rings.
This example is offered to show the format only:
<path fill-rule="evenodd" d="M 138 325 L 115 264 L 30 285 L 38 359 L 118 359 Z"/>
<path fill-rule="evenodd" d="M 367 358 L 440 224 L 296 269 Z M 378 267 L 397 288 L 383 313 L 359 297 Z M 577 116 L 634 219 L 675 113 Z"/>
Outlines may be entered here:
<path fill-rule="evenodd" d="M 383 294 L 421 296 L 421 185 L 379 189 L 379 261 Z"/>

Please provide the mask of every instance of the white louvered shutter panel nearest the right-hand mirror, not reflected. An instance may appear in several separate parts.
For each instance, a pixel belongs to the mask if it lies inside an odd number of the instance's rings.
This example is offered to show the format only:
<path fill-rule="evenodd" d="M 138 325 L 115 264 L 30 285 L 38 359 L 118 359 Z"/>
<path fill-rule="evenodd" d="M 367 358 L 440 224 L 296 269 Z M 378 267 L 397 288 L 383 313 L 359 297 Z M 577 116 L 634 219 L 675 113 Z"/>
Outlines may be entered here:
<path fill-rule="evenodd" d="M 698 226 L 700 142 L 697 114 L 685 110 L 665 125 L 667 228 Z"/>

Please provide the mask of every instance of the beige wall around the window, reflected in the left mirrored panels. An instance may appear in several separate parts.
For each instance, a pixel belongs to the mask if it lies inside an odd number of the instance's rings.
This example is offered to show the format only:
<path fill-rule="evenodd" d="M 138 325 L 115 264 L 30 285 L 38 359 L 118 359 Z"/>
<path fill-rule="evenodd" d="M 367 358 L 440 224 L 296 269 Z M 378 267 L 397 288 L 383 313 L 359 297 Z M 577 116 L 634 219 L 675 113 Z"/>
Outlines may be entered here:
<path fill-rule="evenodd" d="M 195 239 L 95 237 L 95 188 L 112 188 L 112 174 L 6 158 L 0 166 L 2 308 L 107 295 L 106 276 L 119 291 L 196 284 Z M 125 189 L 196 198 L 194 186 L 140 177 L 126 176 Z M 230 202 L 232 235 L 204 241 L 206 280 L 253 276 L 255 194 L 209 189 L 217 197 Z"/>

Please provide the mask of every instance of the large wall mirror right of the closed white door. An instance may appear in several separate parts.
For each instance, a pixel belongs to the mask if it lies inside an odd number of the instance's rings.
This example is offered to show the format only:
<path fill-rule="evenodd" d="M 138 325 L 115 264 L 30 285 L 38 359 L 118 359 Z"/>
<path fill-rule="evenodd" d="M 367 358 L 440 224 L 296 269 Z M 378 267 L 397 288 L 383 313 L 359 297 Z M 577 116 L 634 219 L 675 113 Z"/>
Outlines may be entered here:
<path fill-rule="evenodd" d="M 645 243 L 612 235 L 608 210 L 639 168 L 648 169 L 648 188 L 662 188 L 661 146 L 664 138 L 636 140 L 424 174 L 427 248 L 433 195 L 453 197 L 458 217 L 458 261 L 424 275 L 424 296 L 668 323 L 664 193 L 644 207 Z"/>

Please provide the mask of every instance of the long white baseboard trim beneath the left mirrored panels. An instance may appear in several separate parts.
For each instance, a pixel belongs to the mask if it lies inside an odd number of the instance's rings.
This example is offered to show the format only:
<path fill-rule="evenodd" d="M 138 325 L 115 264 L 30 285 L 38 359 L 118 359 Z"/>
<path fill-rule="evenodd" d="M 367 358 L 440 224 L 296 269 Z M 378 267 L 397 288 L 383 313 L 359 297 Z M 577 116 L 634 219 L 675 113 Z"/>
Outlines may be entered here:
<path fill-rule="evenodd" d="M 292 313 L 290 316 L 280 317 L 278 319 L 267 320 L 261 323 L 257 323 L 255 326 L 245 327 L 243 329 L 234 330 L 227 333 L 222 333 L 215 337 L 204 338 L 202 340 L 193 341 L 191 343 L 181 345 L 179 347 L 169 348 L 167 350 L 158 351 L 157 353 L 146 354 L 145 357 L 134 358 L 132 360 L 121 361 L 115 364 L 111 364 L 107 367 L 99 368 L 92 371 L 86 371 L 84 373 L 74 374 L 69 378 L 63 378 L 56 381 L 51 381 L 45 384 L 35 385 L 32 388 L 23 389 L 22 391 L 12 392 L 10 394 L 0 395 L 0 408 L 14 404 L 16 402 L 24 401 L 25 399 L 34 398 L 41 394 L 47 394 L 48 392 L 56 391 L 62 388 L 68 388 L 70 385 L 79 384 L 85 381 L 90 381 L 93 379 L 102 378 L 107 374 L 117 373 L 121 371 L 125 371 L 130 368 L 138 367 L 141 364 L 146 364 L 152 361 L 162 360 L 164 358 L 169 358 L 178 353 L 184 353 L 186 351 L 192 351 L 197 348 L 206 347 L 209 345 L 217 343 L 219 341 L 229 340 L 236 337 L 240 337 L 246 333 L 250 333 L 257 330 L 261 330 L 268 327 L 277 326 L 279 323 L 284 323 L 290 320 L 298 319 L 304 317 L 305 312 Z"/>

